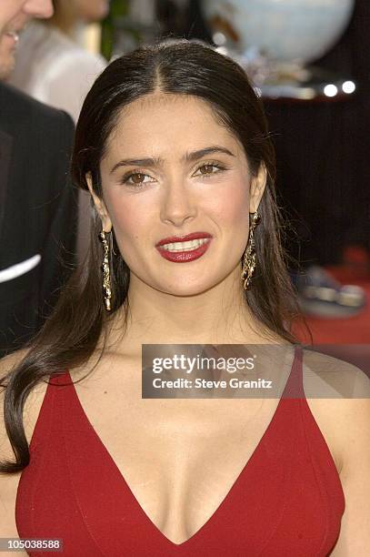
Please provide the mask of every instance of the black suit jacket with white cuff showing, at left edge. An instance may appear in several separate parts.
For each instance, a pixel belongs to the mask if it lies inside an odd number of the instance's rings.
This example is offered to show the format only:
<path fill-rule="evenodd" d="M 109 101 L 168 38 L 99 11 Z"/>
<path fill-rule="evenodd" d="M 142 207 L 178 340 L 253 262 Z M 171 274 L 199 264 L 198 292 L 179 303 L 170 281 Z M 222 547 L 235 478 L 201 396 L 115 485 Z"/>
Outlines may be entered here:
<path fill-rule="evenodd" d="M 70 116 L 0 83 L 0 356 L 40 329 L 75 265 Z"/>

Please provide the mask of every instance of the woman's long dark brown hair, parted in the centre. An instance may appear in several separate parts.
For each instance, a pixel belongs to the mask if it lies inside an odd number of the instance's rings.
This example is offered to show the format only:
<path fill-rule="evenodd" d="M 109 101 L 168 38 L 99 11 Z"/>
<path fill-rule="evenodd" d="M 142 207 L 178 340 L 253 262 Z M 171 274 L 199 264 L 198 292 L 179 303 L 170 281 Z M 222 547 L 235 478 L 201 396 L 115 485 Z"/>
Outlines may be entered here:
<path fill-rule="evenodd" d="M 215 117 L 244 146 L 252 174 L 258 172 L 261 164 L 265 165 L 267 183 L 258 208 L 262 222 L 255 229 L 257 272 L 253 287 L 245 291 L 245 297 L 267 336 L 270 331 L 288 342 L 299 343 L 291 332 L 291 323 L 303 316 L 286 271 L 282 248 L 284 228 L 274 186 L 275 150 L 262 102 L 249 84 L 244 69 L 231 58 L 211 46 L 178 39 L 142 46 L 115 59 L 96 79 L 82 107 L 72 158 L 75 184 L 87 189 L 86 174 L 90 173 L 96 195 L 103 196 L 100 161 L 117 116 L 125 106 L 158 89 L 205 100 Z M 5 376 L 5 427 L 15 462 L 1 463 L 0 471 L 21 471 L 29 462 L 23 408 L 30 390 L 48 376 L 85 363 L 97 349 L 99 339 L 105 338 L 111 318 L 106 317 L 102 295 L 103 252 L 96 240 L 100 229 L 100 219 L 95 217 L 85 265 L 75 272 L 61 292 L 50 319 L 29 343 L 25 358 Z M 111 265 L 112 315 L 116 309 L 124 309 L 125 330 L 130 272 L 122 257 L 113 257 Z M 104 343 L 99 349 L 103 353 Z"/>

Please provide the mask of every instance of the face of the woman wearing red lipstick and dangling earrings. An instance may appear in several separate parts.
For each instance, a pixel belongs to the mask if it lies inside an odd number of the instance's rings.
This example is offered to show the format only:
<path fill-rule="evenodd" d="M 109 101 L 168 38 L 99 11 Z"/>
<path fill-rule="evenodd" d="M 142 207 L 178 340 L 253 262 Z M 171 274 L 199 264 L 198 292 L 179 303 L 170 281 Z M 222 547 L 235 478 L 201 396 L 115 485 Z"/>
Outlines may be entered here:
<path fill-rule="evenodd" d="M 153 160 L 133 162 L 140 159 Z M 131 281 L 186 296 L 240 272 L 265 168 L 252 179 L 243 147 L 205 101 L 155 94 L 125 108 L 101 177 L 104 201 L 94 196 L 95 205 L 105 231 L 114 228 Z M 168 260 L 156 248 L 163 238 L 194 232 L 211 237 L 199 258 Z"/>

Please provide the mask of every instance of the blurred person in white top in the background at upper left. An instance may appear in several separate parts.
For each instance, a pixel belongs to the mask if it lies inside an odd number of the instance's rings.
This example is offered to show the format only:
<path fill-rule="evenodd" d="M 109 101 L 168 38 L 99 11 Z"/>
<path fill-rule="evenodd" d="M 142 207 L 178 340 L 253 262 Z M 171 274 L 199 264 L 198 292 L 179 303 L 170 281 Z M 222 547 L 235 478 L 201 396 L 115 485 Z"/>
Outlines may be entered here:
<path fill-rule="evenodd" d="M 99 21 L 107 0 L 55 0 L 55 13 L 22 33 L 10 83 L 46 105 L 62 108 L 76 121 L 105 59 L 78 44 L 86 23 Z"/>

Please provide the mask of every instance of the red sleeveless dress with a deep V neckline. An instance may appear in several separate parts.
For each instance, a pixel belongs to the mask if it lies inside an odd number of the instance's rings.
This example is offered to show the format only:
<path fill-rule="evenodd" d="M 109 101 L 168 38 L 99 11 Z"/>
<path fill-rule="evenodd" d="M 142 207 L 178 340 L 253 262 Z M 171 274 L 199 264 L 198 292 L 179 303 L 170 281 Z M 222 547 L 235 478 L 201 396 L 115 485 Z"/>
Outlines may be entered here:
<path fill-rule="evenodd" d="M 68 372 L 47 387 L 30 454 L 16 497 L 19 537 L 62 538 L 65 557 L 321 557 L 335 546 L 345 511 L 335 462 L 305 400 L 299 348 L 252 457 L 214 514 L 181 544 L 136 501 Z"/>

